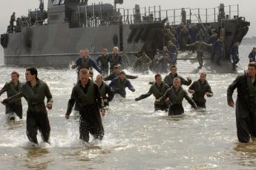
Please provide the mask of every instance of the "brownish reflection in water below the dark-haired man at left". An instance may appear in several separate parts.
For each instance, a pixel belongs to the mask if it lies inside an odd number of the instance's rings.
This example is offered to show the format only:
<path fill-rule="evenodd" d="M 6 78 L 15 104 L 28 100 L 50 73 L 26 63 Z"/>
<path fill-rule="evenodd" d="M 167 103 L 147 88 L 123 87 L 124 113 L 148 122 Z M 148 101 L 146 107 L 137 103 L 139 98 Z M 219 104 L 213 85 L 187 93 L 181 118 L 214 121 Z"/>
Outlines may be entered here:
<path fill-rule="evenodd" d="M 48 154 L 49 152 L 45 148 L 29 149 L 27 157 L 24 159 L 24 166 L 27 169 L 47 169 L 49 163 L 53 162 Z"/>

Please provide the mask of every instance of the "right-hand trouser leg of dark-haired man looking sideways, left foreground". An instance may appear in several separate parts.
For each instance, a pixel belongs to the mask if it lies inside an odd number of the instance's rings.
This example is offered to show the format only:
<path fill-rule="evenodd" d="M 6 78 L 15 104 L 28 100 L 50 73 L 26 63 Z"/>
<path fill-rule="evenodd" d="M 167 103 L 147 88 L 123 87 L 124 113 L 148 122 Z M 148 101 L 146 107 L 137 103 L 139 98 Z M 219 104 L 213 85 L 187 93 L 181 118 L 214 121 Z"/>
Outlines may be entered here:
<path fill-rule="evenodd" d="M 39 126 L 39 131 L 41 132 L 42 135 L 42 140 L 44 142 L 49 143 L 49 138 L 50 138 L 50 123 L 49 119 L 47 116 L 47 113 L 40 113 L 38 115 L 37 123 Z"/>

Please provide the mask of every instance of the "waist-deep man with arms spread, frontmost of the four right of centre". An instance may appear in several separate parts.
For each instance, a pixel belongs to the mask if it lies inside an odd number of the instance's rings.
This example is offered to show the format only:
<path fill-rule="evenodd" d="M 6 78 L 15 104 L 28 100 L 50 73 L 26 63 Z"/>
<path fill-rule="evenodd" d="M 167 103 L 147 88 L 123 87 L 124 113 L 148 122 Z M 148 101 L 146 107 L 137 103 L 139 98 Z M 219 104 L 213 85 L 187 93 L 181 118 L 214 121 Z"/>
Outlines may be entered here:
<path fill-rule="evenodd" d="M 165 94 L 157 100 L 157 102 L 163 102 L 169 98 L 170 106 L 168 115 L 182 115 L 184 113 L 183 109 L 183 99 L 186 98 L 188 103 L 195 109 L 197 108 L 194 101 L 188 96 L 188 93 L 181 86 L 180 78 L 174 78 L 174 84 L 168 89 Z"/>

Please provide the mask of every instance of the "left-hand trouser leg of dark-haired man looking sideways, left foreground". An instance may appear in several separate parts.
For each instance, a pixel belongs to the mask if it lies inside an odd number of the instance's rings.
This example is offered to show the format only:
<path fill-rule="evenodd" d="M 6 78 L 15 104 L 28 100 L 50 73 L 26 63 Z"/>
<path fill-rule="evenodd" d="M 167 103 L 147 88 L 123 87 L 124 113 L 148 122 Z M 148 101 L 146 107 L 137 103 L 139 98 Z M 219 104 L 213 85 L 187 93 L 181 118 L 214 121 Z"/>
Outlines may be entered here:
<path fill-rule="evenodd" d="M 33 113 L 27 112 L 27 138 L 32 143 L 38 144 L 37 140 L 37 130 L 38 126 L 36 125 L 36 119 L 34 118 Z"/>

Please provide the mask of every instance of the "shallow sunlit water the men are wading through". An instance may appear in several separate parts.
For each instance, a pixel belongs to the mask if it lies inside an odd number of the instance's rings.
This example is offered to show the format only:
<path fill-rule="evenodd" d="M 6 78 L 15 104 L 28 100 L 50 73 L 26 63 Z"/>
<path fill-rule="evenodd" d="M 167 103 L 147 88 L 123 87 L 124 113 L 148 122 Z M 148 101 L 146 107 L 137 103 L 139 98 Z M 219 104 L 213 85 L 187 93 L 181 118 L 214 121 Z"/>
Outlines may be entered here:
<path fill-rule="evenodd" d="M 246 68 L 252 47 L 240 47 L 240 67 Z M 14 69 L 24 81 L 24 68 L 2 66 L 0 86 L 9 81 Z M 136 92 L 128 91 L 126 99 L 111 102 L 103 118 L 104 140 L 85 144 L 79 141 L 78 120 L 65 119 L 76 72 L 39 69 L 39 78 L 50 86 L 54 99 L 48 112 L 51 144 L 33 148 L 27 142 L 24 100 L 24 120 L 15 123 L 6 123 L 4 106 L 0 106 L 0 169 L 255 169 L 256 142 L 237 142 L 234 109 L 226 104 L 226 89 L 237 74 L 209 74 L 214 97 L 207 98 L 206 111 L 195 111 L 184 101 L 186 112 L 181 118 L 154 112 L 153 96 L 135 102 L 154 79 L 153 73 L 139 76 L 131 80 Z M 197 74 L 183 74 L 186 76 L 198 78 Z M 1 96 L 4 98 L 6 95 Z"/>

